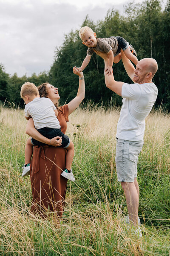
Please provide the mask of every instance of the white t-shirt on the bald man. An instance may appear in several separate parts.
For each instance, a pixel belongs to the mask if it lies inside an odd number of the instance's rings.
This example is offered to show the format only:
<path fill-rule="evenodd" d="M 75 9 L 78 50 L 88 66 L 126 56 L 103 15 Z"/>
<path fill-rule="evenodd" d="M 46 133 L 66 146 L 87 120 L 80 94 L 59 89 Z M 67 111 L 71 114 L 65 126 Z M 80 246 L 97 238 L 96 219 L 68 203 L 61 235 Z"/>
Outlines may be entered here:
<path fill-rule="evenodd" d="M 158 95 L 154 83 L 123 84 L 122 109 L 116 137 L 122 140 L 143 140 L 145 121 Z"/>

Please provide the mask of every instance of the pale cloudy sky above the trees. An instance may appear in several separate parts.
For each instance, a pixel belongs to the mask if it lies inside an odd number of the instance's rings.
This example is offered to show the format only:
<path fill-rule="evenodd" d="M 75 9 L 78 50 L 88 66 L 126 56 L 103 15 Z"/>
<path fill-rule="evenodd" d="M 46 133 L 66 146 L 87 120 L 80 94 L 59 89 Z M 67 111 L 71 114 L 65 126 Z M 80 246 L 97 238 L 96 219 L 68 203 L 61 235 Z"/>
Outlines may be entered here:
<path fill-rule="evenodd" d="M 6 73 L 19 77 L 49 71 L 56 47 L 62 46 L 65 34 L 81 28 L 86 15 L 96 22 L 105 18 L 108 9 L 123 14 L 123 6 L 129 2 L 0 0 L 0 64 Z M 162 5 L 165 3 L 163 0 Z"/>

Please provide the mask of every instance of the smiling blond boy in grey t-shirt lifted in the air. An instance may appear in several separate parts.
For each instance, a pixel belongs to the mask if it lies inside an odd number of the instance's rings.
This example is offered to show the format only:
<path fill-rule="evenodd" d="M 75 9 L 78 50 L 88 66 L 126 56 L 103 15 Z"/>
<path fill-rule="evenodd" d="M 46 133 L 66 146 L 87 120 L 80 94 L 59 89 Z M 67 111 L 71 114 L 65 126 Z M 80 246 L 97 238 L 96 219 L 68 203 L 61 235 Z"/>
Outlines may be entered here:
<path fill-rule="evenodd" d="M 96 33 L 93 32 L 88 26 L 84 26 L 79 31 L 79 37 L 82 39 L 82 43 L 88 47 L 87 56 L 82 62 L 82 66 L 79 71 L 82 71 L 87 67 L 94 50 L 99 52 L 108 53 L 109 65 L 106 68 L 106 74 L 111 75 L 113 73 L 113 62 L 118 63 L 121 59 L 120 50 L 124 51 L 126 57 L 130 59 L 135 65 L 139 62 L 136 58 L 136 52 L 131 45 L 120 36 L 111 36 L 109 38 L 96 38 Z"/>

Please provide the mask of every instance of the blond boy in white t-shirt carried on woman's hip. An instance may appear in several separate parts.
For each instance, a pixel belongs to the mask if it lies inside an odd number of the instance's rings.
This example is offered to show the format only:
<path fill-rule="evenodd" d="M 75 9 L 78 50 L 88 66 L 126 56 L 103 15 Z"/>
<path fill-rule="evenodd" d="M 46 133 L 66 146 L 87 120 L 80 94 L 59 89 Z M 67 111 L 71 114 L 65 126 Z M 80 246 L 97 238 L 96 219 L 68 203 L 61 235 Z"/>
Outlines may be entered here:
<path fill-rule="evenodd" d="M 51 99 L 40 98 L 39 92 L 35 84 L 26 82 L 21 87 L 21 98 L 26 103 L 25 117 L 28 120 L 30 116 L 34 120 L 34 125 L 37 131 L 48 139 L 56 136 L 62 137 L 62 147 L 67 149 L 65 169 L 62 176 L 68 180 L 75 181 L 71 164 L 74 157 L 74 144 L 69 137 L 62 133 L 57 119 L 57 108 Z M 25 149 L 25 165 L 23 167 L 23 177 L 29 175 L 30 162 L 34 145 L 43 145 L 33 138 L 29 138 Z"/>

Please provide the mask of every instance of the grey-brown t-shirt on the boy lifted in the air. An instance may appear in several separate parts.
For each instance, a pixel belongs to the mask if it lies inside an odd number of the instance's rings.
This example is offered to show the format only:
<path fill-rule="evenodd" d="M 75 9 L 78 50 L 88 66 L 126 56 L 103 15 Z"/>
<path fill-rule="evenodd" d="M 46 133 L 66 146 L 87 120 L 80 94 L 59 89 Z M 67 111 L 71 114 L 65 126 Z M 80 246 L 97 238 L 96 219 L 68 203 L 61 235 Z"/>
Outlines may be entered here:
<path fill-rule="evenodd" d="M 118 48 L 118 41 L 116 37 L 112 36 L 110 38 L 96 38 L 97 45 L 96 47 L 88 47 L 87 54 L 92 56 L 95 49 L 98 52 L 108 53 L 110 50 L 113 51 L 113 54 L 116 54 Z"/>

